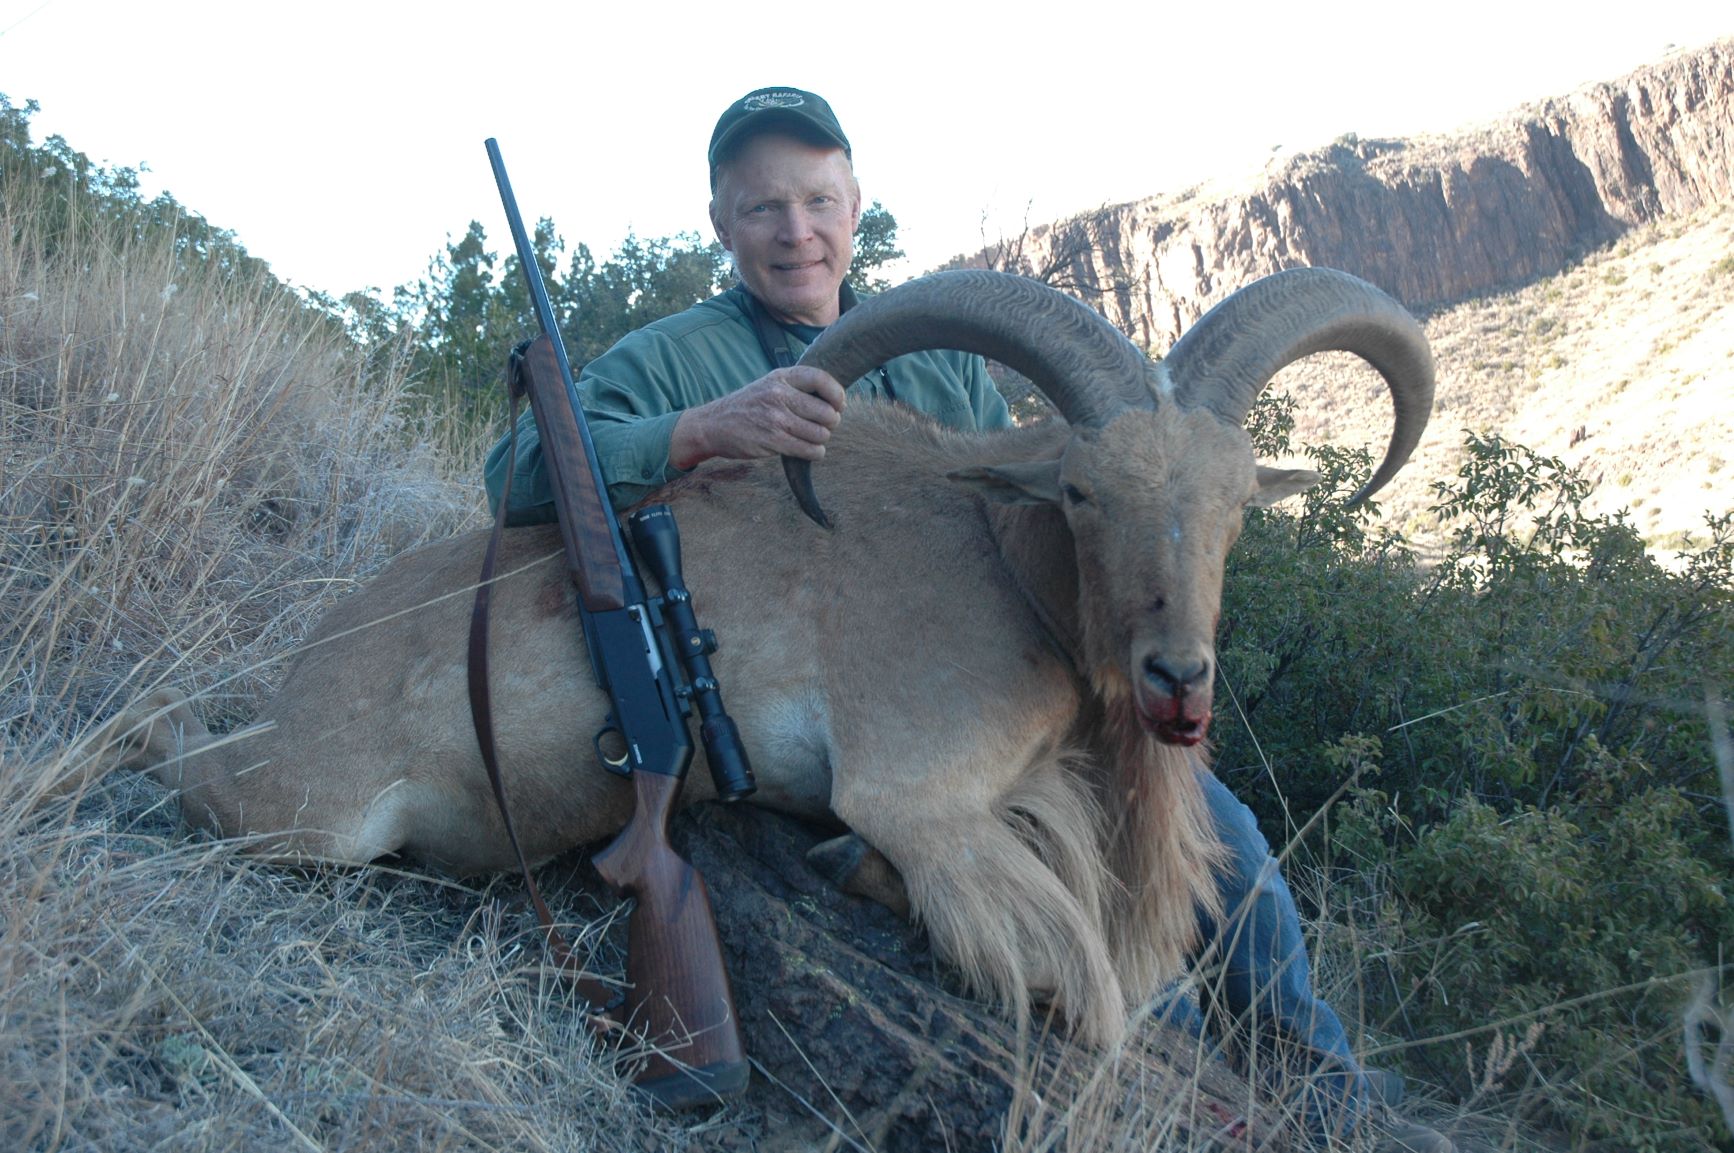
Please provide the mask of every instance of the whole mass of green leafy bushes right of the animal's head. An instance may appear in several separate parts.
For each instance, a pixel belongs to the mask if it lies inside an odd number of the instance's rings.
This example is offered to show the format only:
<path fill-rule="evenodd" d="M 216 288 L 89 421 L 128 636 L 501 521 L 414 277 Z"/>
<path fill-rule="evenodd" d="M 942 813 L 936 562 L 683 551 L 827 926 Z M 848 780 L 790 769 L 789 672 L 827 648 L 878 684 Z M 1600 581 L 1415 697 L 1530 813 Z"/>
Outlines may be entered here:
<path fill-rule="evenodd" d="M 1257 416 L 1262 451 L 1283 425 Z M 1705 709 L 1734 683 L 1734 517 L 1665 569 L 1561 461 L 1470 433 L 1420 565 L 1342 508 L 1368 465 L 1318 453 L 1299 511 L 1248 515 L 1221 775 L 1283 843 L 1359 772 L 1321 851 L 1347 909 L 1382 903 L 1354 926 L 1370 1028 L 1451 1039 L 1405 1042 L 1413 1072 L 1578 1141 L 1727 1141 L 1679 1035 L 1684 978 L 1734 941 Z M 1463 1061 L 1493 1037 L 1503 1077 Z"/>

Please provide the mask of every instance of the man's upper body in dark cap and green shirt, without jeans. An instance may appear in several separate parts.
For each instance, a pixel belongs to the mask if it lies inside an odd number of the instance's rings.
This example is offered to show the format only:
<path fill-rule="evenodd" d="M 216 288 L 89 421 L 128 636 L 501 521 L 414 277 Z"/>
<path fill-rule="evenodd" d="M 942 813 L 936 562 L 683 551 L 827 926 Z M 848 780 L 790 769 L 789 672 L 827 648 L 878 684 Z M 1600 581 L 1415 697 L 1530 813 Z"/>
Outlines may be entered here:
<path fill-rule="evenodd" d="M 740 284 L 624 336 L 577 380 L 609 498 L 624 508 L 711 458 L 822 459 L 846 390 L 796 366 L 855 303 L 843 277 L 860 222 L 848 139 L 818 97 L 765 88 L 730 106 L 711 137 L 711 225 Z M 1011 414 L 981 357 L 916 352 L 848 392 L 896 399 L 959 428 Z M 510 524 L 553 520 L 534 420 L 518 425 Z M 498 501 L 506 446 L 487 458 Z"/>

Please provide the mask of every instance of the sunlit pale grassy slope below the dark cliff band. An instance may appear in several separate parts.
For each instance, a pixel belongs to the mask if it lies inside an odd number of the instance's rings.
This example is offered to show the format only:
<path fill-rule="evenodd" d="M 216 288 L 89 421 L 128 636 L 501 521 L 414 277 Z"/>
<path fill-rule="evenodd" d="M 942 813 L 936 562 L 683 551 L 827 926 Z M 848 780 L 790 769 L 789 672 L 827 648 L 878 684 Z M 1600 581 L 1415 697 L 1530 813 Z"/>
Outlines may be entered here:
<path fill-rule="evenodd" d="M 1644 539 L 1705 539 L 1705 511 L 1734 508 L 1734 208 L 1635 229 L 1616 246 L 1514 293 L 1427 319 L 1439 366 L 1432 423 L 1380 494 L 1387 524 L 1441 537 L 1431 484 L 1451 480 L 1463 435 L 1496 432 L 1576 466 L 1592 513 L 1628 510 Z M 1347 355 L 1278 376 L 1297 401 L 1297 444 L 1389 435 L 1384 383 Z"/>

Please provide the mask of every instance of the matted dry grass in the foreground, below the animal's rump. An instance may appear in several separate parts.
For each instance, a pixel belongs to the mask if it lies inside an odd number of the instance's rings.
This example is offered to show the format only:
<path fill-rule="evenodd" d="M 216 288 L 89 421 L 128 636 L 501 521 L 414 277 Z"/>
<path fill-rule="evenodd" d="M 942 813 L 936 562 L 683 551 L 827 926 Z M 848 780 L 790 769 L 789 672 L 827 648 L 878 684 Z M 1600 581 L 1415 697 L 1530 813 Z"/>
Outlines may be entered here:
<path fill-rule="evenodd" d="M 619 1098 L 477 893 L 255 867 L 111 811 L 7 865 L 7 1148 L 583 1148 L 570 1103 Z"/>

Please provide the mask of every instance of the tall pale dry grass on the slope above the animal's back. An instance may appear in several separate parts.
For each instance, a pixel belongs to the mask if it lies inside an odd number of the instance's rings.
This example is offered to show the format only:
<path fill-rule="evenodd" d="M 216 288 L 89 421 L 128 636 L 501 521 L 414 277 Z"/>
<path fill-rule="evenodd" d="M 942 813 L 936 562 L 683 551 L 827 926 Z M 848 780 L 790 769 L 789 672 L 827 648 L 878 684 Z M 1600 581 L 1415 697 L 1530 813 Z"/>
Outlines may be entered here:
<path fill-rule="evenodd" d="M 333 596 L 475 506 L 404 427 L 392 357 L 76 192 L 50 255 L 33 222 L 66 196 L 9 184 L 0 210 L 9 758 L 168 678 L 250 711 Z"/>

